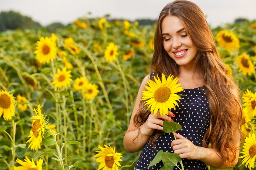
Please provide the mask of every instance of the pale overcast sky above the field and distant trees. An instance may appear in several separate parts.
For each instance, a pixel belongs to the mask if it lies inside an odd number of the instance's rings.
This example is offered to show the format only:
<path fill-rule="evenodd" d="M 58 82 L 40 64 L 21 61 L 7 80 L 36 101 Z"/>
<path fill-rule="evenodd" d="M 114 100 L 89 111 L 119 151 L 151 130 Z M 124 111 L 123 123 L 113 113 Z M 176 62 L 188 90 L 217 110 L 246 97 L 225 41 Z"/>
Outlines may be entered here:
<path fill-rule="evenodd" d="M 256 20 L 256 0 L 191 0 L 207 16 L 208 23 L 219 26 L 236 18 Z M 128 20 L 157 19 L 172 0 L 0 0 L 0 11 L 14 10 L 46 26 L 52 22 L 68 24 L 79 17 L 103 17 Z M 91 12 L 91 15 L 88 15 Z"/>

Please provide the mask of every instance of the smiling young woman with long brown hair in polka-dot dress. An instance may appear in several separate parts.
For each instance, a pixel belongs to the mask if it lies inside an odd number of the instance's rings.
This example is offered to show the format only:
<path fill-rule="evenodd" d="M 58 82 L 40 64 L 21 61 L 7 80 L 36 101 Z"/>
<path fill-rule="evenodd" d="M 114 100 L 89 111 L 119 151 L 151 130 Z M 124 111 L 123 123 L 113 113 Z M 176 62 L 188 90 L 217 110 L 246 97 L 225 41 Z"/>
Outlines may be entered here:
<path fill-rule="evenodd" d="M 135 170 L 147 170 L 159 150 L 180 155 L 185 170 L 235 166 L 242 117 L 239 90 L 227 76 L 204 13 L 187 0 L 167 4 L 157 21 L 154 46 L 152 73 L 141 83 L 124 136 L 128 152 L 142 150 Z M 150 113 L 141 97 L 148 79 L 162 73 L 178 77 L 184 91 L 179 107 L 161 116 Z M 182 125 L 176 140 L 162 133 L 163 121 L 171 119 Z M 160 161 L 149 169 L 162 166 Z"/>

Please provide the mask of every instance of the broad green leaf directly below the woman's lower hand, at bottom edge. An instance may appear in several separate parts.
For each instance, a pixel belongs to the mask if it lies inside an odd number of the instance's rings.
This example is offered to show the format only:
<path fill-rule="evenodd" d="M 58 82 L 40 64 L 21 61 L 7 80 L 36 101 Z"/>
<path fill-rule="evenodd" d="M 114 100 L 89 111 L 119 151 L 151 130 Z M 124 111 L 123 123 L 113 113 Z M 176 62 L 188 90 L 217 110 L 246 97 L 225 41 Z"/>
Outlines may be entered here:
<path fill-rule="evenodd" d="M 180 156 L 176 153 L 164 152 L 162 153 L 162 160 L 164 167 L 168 170 L 172 170 L 177 163 L 181 160 Z"/>

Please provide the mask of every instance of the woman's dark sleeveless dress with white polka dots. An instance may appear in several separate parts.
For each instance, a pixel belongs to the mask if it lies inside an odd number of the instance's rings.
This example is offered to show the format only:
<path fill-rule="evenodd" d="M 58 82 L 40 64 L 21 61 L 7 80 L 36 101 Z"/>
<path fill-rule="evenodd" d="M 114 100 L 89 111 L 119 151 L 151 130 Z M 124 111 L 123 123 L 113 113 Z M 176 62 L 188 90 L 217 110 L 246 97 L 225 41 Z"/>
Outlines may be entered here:
<path fill-rule="evenodd" d="M 204 92 L 205 86 L 192 89 L 184 89 L 180 92 L 182 99 L 178 102 L 179 107 L 171 112 L 175 114 L 173 120 L 182 126 L 177 133 L 189 139 L 196 146 L 202 146 L 203 136 L 209 128 L 210 109 Z M 159 170 L 163 166 L 160 161 L 155 166 L 148 168 L 159 150 L 173 153 L 171 142 L 174 140 L 172 133 L 165 133 L 155 141 L 155 148 L 148 142 L 141 151 L 135 170 Z M 184 170 L 205 170 L 207 166 L 199 160 L 182 159 Z M 178 163 L 180 166 L 180 163 Z M 180 167 L 181 168 L 181 167 Z M 174 167 L 173 170 L 178 170 Z"/>

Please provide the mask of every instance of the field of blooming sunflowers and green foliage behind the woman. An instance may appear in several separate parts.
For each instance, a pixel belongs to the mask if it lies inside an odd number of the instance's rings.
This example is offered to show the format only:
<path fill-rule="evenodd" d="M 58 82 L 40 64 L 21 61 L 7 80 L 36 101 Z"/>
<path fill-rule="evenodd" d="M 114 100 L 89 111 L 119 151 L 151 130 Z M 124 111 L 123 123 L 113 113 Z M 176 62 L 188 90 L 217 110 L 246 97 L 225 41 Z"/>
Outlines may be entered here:
<path fill-rule="evenodd" d="M 256 158 L 256 22 L 212 28 L 241 90 L 240 159 Z M 130 170 L 123 146 L 155 26 L 79 18 L 65 29 L 0 33 L 0 170 Z M 213 169 L 209 167 L 210 169 Z"/>

